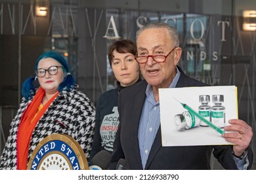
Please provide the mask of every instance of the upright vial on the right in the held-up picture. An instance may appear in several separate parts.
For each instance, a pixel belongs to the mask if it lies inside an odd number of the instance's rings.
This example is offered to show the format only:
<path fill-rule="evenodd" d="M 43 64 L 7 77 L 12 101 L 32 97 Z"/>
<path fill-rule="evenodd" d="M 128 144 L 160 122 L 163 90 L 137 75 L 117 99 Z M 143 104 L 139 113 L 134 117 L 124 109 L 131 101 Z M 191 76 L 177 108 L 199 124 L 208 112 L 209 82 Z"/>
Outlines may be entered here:
<path fill-rule="evenodd" d="M 211 122 L 217 127 L 223 128 L 225 125 L 226 112 L 225 107 L 221 105 L 224 102 L 223 95 L 213 95 L 213 107 L 211 107 Z"/>

